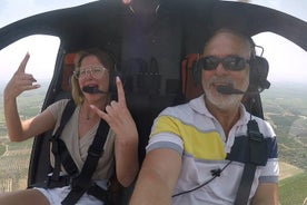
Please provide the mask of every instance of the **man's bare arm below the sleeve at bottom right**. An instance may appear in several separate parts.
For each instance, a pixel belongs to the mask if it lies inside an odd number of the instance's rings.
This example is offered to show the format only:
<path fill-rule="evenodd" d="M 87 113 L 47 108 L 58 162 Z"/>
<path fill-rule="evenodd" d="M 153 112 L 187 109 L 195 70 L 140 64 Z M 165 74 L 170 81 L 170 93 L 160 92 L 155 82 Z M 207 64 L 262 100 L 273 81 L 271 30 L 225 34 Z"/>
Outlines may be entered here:
<path fill-rule="evenodd" d="M 255 196 L 252 198 L 252 205 L 277 205 L 278 185 L 276 183 L 260 183 Z"/>

